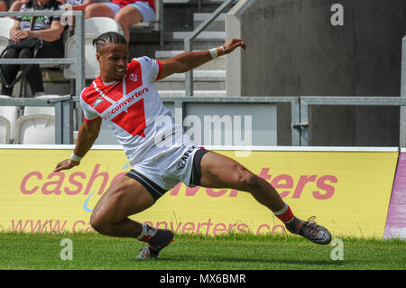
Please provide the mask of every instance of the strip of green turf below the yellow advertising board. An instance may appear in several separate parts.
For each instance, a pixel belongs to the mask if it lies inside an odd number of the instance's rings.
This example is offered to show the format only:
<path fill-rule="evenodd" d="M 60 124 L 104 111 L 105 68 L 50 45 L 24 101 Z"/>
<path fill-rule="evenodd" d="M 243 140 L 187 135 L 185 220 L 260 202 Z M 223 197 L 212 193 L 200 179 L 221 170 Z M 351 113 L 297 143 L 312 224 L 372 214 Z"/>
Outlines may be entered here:
<path fill-rule="evenodd" d="M 60 241 L 69 238 L 73 259 L 62 261 Z M 344 260 L 333 261 L 336 246 L 318 246 L 301 237 L 177 235 L 155 261 L 135 260 L 144 245 L 131 238 L 86 234 L 0 233 L 0 269 L 406 269 L 406 241 L 341 237 Z"/>

